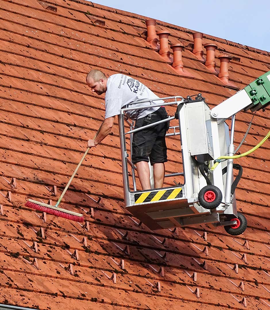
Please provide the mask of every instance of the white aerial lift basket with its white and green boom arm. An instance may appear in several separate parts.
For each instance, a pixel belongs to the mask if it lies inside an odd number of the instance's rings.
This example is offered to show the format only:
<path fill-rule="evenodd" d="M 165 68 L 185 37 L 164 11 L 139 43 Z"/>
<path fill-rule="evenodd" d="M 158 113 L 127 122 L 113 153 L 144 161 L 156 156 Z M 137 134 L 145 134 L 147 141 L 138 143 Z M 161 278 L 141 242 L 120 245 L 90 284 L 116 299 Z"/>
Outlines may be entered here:
<path fill-rule="evenodd" d="M 260 97 L 256 96 L 258 91 Z M 212 224 L 225 226 L 226 231 L 232 235 L 242 233 L 247 224 L 244 215 L 237 213 L 235 198 L 235 188 L 241 178 L 242 168 L 233 163 L 233 158 L 217 159 L 223 155 L 234 155 L 235 114 L 243 109 L 251 109 L 254 112 L 265 108 L 270 104 L 269 94 L 270 72 L 212 110 L 201 94 L 196 95 L 194 100 L 189 96 L 186 99 L 173 96 L 140 101 L 122 108 L 118 123 L 126 209 L 153 230 Z M 159 103 L 159 100 L 164 100 L 165 103 Z M 135 104 L 138 103 L 140 106 L 137 109 L 140 110 L 173 106 L 175 114 L 165 120 L 134 129 L 134 122 L 127 120 L 125 112 L 136 110 Z M 142 106 L 142 103 L 145 105 Z M 231 135 L 225 122 L 229 117 Z M 179 136 L 178 162 L 182 161 L 183 169 L 165 175 L 165 178 L 177 179 L 180 176 L 182 184 L 174 180 L 175 185 L 168 187 L 137 190 L 136 166 L 129 160 L 133 133 L 173 119 L 178 120 L 179 126 L 170 127 L 173 132 L 168 133 L 166 137 Z M 215 164 L 215 160 L 220 164 Z M 211 169 L 213 166 L 214 169 Z M 235 180 L 233 169 L 238 170 Z"/>

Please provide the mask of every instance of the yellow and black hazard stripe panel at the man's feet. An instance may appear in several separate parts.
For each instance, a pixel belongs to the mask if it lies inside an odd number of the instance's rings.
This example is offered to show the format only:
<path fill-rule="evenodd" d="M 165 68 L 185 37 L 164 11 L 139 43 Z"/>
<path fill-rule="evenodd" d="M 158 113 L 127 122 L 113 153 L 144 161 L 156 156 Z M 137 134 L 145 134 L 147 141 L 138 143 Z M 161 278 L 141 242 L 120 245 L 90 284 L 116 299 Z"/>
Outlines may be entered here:
<path fill-rule="evenodd" d="M 162 189 L 157 192 L 144 192 L 134 195 L 135 203 L 160 201 L 183 197 L 182 188 Z"/>

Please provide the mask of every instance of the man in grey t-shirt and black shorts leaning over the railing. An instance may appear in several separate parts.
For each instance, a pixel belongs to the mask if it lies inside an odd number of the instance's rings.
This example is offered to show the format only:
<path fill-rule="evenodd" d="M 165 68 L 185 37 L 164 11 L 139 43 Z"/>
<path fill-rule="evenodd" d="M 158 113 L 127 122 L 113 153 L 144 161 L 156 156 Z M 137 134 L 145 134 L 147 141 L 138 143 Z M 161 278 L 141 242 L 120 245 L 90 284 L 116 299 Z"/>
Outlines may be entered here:
<path fill-rule="evenodd" d="M 86 77 L 86 83 L 92 93 L 105 95 L 105 120 L 95 139 L 88 140 L 88 147 L 96 147 L 112 130 L 115 116 L 120 114 L 124 106 L 141 100 L 159 98 L 149 88 L 138 80 L 124 74 L 113 74 L 109 78 L 100 70 L 91 70 Z M 164 101 L 160 100 L 160 103 Z M 145 103 L 135 104 L 136 108 Z M 136 120 L 135 128 L 139 128 L 167 118 L 164 107 L 154 107 L 142 110 L 131 110 L 126 113 L 129 119 Z M 165 175 L 164 162 L 167 162 L 167 147 L 165 135 L 168 122 L 137 131 L 133 134 L 132 162 L 136 164 L 142 189 L 150 189 L 150 163 L 154 168 L 155 188 L 162 188 Z"/>

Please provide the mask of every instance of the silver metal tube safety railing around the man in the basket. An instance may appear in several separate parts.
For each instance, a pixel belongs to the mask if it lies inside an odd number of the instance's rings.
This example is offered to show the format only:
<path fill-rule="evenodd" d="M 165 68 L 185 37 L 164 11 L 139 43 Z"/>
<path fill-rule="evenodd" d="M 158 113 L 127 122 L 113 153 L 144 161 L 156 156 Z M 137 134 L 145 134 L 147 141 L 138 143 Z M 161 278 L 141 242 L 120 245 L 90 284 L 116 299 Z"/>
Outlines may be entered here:
<path fill-rule="evenodd" d="M 159 101 L 159 100 L 174 100 L 173 102 L 163 102 L 163 103 L 160 103 L 160 104 L 153 104 L 154 101 Z M 177 101 L 177 99 L 181 99 L 180 101 Z M 120 115 L 121 117 L 124 119 L 124 121 L 128 124 L 129 126 L 129 131 L 128 132 L 124 132 L 124 128 L 122 130 L 122 135 L 121 135 L 121 132 L 120 132 L 120 139 L 121 139 L 121 136 L 124 140 L 124 143 L 125 142 L 125 136 L 129 134 L 129 137 L 130 137 L 130 153 L 132 154 L 132 139 L 133 139 L 133 133 L 134 132 L 138 132 L 138 131 L 141 131 L 143 129 L 146 129 L 146 128 L 149 128 L 149 127 L 152 127 L 152 126 L 156 126 L 160 123 L 163 123 L 163 122 L 168 122 L 170 120 L 173 120 L 175 119 L 175 116 L 172 116 L 172 117 L 168 117 L 164 120 L 161 120 L 161 121 L 158 121 L 158 122 L 154 122 L 152 124 L 149 124 L 149 125 L 145 125 L 145 126 L 142 126 L 140 128 L 136 128 L 134 129 L 134 124 L 135 122 L 134 121 L 131 121 L 124 116 L 125 112 L 126 111 L 131 111 L 131 110 L 142 110 L 142 109 L 147 109 L 147 108 L 155 108 L 155 107 L 161 107 L 161 106 L 167 106 L 167 105 L 174 105 L 174 104 L 180 104 L 182 103 L 183 101 L 183 97 L 182 96 L 173 96 L 173 97 L 165 97 L 165 98 L 156 98 L 156 99 L 151 99 L 151 100 L 141 100 L 141 101 L 136 101 L 134 103 L 130 103 L 128 104 L 128 108 L 122 108 L 121 109 L 121 112 L 120 112 Z M 137 104 L 142 104 L 142 103 L 150 103 L 148 105 L 143 105 L 143 106 L 139 106 L 139 107 L 136 107 L 136 106 L 133 106 L 133 107 L 130 107 L 130 105 L 137 105 Z M 120 124 L 119 124 L 120 126 Z M 120 128 L 119 128 L 120 129 Z M 178 126 L 170 126 L 169 129 L 173 129 L 173 133 L 168 133 L 166 134 L 166 137 L 168 136 L 176 136 L 176 135 L 180 135 L 180 131 L 176 131 L 177 129 L 179 129 L 179 125 Z M 136 168 L 136 165 L 134 165 L 127 157 L 128 157 L 128 154 L 126 152 L 126 148 L 125 148 L 125 154 L 126 154 L 126 161 L 127 163 L 131 166 L 131 176 L 132 176 L 132 182 L 133 182 L 133 190 L 134 191 L 137 191 L 137 188 L 136 188 L 136 179 L 135 179 L 135 170 L 137 170 Z M 124 165 L 124 162 L 123 162 L 123 156 L 122 156 L 122 164 Z M 150 169 L 150 179 L 153 178 L 153 170 Z M 176 173 L 170 173 L 170 174 L 167 174 L 165 175 L 164 177 L 165 178 L 168 178 L 168 177 L 173 177 L 173 176 L 183 176 L 184 173 L 183 172 L 176 172 Z M 128 180 L 127 180 L 128 181 Z M 152 184 L 151 184 L 152 185 Z"/>

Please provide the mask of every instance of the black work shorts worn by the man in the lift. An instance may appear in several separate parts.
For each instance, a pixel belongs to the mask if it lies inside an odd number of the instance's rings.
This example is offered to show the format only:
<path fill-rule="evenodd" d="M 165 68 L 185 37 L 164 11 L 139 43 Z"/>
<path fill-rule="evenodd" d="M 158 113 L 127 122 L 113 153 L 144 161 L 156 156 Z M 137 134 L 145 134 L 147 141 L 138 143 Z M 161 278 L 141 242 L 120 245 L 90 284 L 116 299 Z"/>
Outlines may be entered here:
<path fill-rule="evenodd" d="M 160 107 L 151 114 L 151 123 L 167 118 L 166 109 Z M 150 124 L 147 116 L 137 119 L 135 127 L 139 128 Z M 165 135 L 168 129 L 168 122 L 160 123 L 156 126 L 137 131 L 133 134 L 132 140 L 132 162 L 149 162 L 151 165 L 167 162 L 167 146 Z"/>

